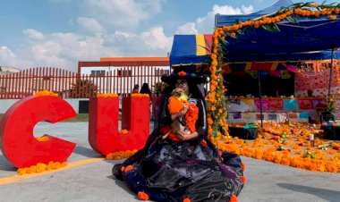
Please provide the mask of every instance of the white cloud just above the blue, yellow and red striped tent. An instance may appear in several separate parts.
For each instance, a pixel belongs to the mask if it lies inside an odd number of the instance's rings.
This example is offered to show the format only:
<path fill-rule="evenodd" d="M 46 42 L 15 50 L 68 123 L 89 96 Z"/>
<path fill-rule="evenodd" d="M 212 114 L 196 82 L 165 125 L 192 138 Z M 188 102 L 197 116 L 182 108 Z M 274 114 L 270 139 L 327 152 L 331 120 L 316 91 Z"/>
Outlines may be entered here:
<path fill-rule="evenodd" d="M 214 31 L 215 15 L 219 14 L 248 14 L 253 12 L 253 7 L 242 5 L 241 8 L 234 8 L 230 5 L 219 6 L 215 4 L 212 11 L 208 12 L 204 17 L 198 18 L 195 22 L 187 22 L 177 28 L 177 34 L 207 34 Z"/>

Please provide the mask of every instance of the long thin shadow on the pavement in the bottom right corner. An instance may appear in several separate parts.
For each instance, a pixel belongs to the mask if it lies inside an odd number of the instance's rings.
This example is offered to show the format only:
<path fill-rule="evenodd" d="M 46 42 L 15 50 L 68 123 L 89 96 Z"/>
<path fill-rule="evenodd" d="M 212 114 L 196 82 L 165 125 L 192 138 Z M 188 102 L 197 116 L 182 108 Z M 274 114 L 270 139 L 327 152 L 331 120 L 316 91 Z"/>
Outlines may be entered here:
<path fill-rule="evenodd" d="M 313 188 L 313 187 L 297 185 L 297 184 L 288 184 L 288 183 L 277 183 L 277 185 L 279 187 L 293 190 L 296 192 L 312 194 L 312 195 L 315 195 L 319 198 L 323 198 L 328 201 L 336 201 L 337 200 L 336 198 L 340 196 L 340 191 L 336 191 L 336 190 Z"/>

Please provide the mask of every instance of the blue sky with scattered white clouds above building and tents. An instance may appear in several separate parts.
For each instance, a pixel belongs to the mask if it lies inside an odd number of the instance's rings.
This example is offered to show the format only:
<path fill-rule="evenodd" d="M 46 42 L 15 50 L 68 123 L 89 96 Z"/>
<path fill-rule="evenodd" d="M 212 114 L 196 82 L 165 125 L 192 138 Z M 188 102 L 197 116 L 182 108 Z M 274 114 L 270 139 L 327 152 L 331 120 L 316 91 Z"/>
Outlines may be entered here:
<path fill-rule="evenodd" d="M 174 34 L 212 33 L 216 13 L 254 13 L 275 3 L 276 0 L 3 0 L 0 66 L 75 71 L 79 61 L 98 61 L 100 57 L 166 56 Z"/>

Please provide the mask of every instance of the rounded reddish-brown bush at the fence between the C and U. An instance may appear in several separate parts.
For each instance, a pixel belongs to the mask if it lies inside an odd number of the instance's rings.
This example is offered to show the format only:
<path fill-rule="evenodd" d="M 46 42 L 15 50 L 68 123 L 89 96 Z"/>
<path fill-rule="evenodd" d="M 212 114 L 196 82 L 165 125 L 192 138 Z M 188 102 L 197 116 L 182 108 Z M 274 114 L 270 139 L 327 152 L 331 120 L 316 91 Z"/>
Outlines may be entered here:
<path fill-rule="evenodd" d="M 72 88 L 69 90 L 69 97 L 71 98 L 89 98 L 96 97 L 98 87 L 91 80 L 77 79 L 72 83 Z"/>

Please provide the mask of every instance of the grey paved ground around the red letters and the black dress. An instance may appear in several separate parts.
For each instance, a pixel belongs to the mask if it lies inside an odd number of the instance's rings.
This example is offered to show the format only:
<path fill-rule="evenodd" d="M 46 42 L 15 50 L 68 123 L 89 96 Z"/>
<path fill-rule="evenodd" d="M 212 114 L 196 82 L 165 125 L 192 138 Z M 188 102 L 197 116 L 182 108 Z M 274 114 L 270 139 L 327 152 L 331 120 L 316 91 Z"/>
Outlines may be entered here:
<path fill-rule="evenodd" d="M 20 180 L 13 177 L 13 165 L 0 155 L 0 183 L 6 177 L 13 180 L 0 185 L 0 201 L 138 201 L 111 175 L 113 164 L 120 161 L 93 160 L 100 156 L 89 146 L 87 122 L 39 123 L 35 134 L 45 133 L 77 143 L 68 161 L 74 166 Z M 86 159 L 95 162 L 85 164 Z M 247 164 L 247 184 L 239 196 L 241 202 L 340 201 L 340 174 L 312 173 L 247 157 L 242 160 Z"/>

